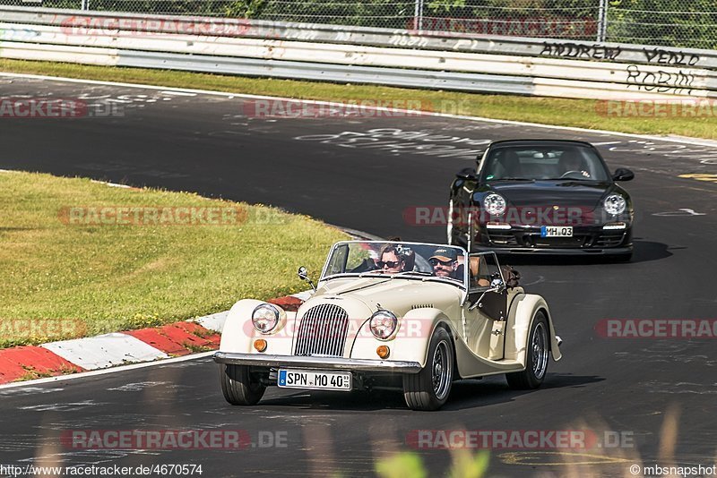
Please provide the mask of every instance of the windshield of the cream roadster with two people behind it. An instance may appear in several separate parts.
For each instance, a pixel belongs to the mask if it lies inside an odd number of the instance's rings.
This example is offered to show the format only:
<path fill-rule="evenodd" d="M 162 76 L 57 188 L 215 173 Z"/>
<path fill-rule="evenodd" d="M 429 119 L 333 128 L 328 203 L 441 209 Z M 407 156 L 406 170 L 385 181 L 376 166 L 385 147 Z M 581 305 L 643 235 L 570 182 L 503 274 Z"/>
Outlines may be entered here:
<path fill-rule="evenodd" d="M 418 277 L 464 283 L 465 251 L 426 243 L 346 242 L 333 246 L 322 280 L 339 275 Z"/>

